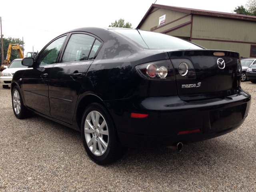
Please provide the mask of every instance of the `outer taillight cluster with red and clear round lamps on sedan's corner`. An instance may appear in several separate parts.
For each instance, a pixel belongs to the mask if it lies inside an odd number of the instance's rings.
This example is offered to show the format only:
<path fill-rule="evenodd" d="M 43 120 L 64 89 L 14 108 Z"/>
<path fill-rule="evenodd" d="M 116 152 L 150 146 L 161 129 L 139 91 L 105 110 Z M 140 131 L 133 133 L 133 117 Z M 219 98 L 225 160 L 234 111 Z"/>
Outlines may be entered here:
<path fill-rule="evenodd" d="M 172 80 L 175 79 L 174 70 L 170 60 L 137 65 L 136 70 L 143 78 L 150 80 Z"/>

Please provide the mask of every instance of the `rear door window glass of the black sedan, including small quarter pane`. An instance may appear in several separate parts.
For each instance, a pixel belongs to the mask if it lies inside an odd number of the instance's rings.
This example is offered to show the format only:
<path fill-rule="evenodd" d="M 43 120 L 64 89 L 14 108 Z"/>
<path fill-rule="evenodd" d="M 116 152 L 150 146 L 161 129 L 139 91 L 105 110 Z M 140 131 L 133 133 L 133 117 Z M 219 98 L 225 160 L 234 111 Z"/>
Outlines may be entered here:
<path fill-rule="evenodd" d="M 94 58 L 99 45 L 100 42 L 90 35 L 72 34 L 61 62 L 91 60 Z"/>

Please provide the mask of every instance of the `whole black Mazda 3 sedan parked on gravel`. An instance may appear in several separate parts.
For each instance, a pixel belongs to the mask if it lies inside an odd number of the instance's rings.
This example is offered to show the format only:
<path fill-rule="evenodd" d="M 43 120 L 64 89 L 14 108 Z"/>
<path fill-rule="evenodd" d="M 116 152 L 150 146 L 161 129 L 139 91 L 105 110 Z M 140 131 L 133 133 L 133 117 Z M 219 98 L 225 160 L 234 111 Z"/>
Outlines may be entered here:
<path fill-rule="evenodd" d="M 250 108 L 238 53 L 154 32 L 79 28 L 22 64 L 11 84 L 15 116 L 33 111 L 79 130 L 97 164 L 125 147 L 180 150 L 226 134 Z"/>

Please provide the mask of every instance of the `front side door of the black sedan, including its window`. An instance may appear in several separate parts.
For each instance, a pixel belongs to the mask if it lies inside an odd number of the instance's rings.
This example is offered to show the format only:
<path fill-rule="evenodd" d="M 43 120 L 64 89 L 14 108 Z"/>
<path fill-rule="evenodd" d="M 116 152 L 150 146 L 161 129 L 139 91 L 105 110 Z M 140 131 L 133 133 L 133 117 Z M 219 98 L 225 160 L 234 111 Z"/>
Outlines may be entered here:
<path fill-rule="evenodd" d="M 48 75 L 57 62 L 65 39 L 66 35 L 50 42 L 35 58 L 35 67 L 28 68 L 22 79 L 26 106 L 47 116 L 50 116 Z"/>

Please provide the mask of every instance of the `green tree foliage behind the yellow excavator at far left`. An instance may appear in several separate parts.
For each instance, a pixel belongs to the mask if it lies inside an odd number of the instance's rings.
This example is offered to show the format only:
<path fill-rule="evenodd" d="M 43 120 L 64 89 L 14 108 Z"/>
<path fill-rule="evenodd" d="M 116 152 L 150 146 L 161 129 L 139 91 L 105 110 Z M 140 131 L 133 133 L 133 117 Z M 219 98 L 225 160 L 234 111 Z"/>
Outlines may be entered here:
<path fill-rule="evenodd" d="M 17 44 L 20 45 L 22 48 L 22 40 L 20 40 L 20 38 L 3 38 L 3 47 L 4 47 L 4 60 L 6 59 L 6 55 L 7 55 L 7 50 L 8 50 L 8 46 L 9 44 Z M 25 44 L 25 43 L 23 43 Z M 22 48 L 22 51 L 24 51 L 24 48 Z M 12 60 L 20 58 L 19 54 L 18 54 L 18 50 L 16 49 L 12 49 L 12 53 L 10 56 L 10 62 L 12 62 Z M 0 61 L 2 61 L 2 47 L 0 44 Z"/>

